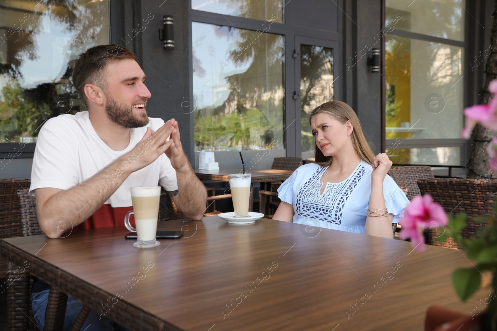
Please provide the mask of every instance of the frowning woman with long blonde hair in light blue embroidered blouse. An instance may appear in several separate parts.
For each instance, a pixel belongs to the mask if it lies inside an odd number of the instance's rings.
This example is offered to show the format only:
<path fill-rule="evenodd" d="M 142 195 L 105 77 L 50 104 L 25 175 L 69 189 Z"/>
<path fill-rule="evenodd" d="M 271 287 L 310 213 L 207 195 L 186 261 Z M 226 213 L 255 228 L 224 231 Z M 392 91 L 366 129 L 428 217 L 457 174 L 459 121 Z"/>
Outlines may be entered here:
<path fill-rule="evenodd" d="M 387 175 L 392 161 L 374 156 L 357 115 L 340 101 L 314 109 L 316 163 L 299 167 L 278 189 L 273 219 L 392 238 L 409 204 Z"/>

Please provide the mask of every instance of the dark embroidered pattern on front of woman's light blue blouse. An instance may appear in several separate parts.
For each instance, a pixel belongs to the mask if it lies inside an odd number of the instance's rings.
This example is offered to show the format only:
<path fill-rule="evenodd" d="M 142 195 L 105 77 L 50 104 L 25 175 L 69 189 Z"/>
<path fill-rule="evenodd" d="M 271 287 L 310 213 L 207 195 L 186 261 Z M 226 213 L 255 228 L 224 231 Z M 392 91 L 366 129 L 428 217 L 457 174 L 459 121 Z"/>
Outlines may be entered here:
<path fill-rule="evenodd" d="M 319 168 L 302 186 L 297 194 L 296 213 L 299 216 L 318 219 L 323 222 L 341 224 L 342 211 L 348 197 L 366 174 L 363 165 L 341 183 L 328 183 L 323 195 L 320 195 L 321 175 L 328 167 Z"/>

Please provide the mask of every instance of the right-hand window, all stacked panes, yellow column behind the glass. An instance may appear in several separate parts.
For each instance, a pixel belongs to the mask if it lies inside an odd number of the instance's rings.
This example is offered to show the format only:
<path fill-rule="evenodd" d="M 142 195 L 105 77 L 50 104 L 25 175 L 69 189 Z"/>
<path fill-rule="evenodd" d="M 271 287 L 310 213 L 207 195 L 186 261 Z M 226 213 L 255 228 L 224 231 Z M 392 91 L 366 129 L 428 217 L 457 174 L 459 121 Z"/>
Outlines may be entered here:
<path fill-rule="evenodd" d="M 394 163 L 461 163 L 461 147 L 428 148 L 424 139 L 438 144 L 436 139 L 461 138 L 465 48 L 429 39 L 464 42 L 465 4 L 464 0 L 385 1 L 385 127 L 386 138 L 395 139 L 387 146 Z M 417 35 L 401 37 L 397 35 L 401 30 Z M 423 145 L 401 148 L 403 139 L 423 139 L 419 140 Z"/>

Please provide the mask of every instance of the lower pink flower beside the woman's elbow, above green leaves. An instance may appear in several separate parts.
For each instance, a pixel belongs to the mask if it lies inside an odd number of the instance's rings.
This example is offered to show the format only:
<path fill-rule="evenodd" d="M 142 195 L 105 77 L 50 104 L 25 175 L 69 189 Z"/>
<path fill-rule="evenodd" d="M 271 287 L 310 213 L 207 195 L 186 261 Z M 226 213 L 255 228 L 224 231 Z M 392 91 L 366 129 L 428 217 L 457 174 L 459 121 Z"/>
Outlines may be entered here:
<path fill-rule="evenodd" d="M 402 225 L 401 239 L 411 238 L 411 245 L 419 252 L 424 251 L 423 230 L 430 227 L 446 225 L 449 221 L 445 210 L 437 202 L 433 202 L 429 194 L 415 196 L 404 211 L 400 220 Z"/>

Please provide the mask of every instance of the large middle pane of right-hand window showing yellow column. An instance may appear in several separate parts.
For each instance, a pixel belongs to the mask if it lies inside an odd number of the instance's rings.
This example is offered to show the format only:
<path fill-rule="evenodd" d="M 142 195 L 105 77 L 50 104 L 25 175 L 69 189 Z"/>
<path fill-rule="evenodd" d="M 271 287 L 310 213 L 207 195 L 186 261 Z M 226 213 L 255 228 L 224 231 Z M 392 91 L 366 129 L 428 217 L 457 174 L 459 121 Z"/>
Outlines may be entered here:
<path fill-rule="evenodd" d="M 387 139 L 460 138 L 463 49 L 389 34 L 385 46 Z"/>

